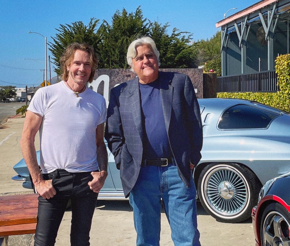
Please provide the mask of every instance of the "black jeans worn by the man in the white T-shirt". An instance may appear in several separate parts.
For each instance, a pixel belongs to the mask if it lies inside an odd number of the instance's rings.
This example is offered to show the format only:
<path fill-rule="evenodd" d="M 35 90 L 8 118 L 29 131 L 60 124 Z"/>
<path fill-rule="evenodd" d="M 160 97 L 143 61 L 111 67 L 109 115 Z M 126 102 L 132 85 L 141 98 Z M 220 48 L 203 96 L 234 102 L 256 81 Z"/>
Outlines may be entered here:
<path fill-rule="evenodd" d="M 45 180 L 52 179 L 56 195 L 50 199 L 38 197 L 35 246 L 55 245 L 59 225 L 64 216 L 69 199 L 72 204 L 70 244 L 90 245 L 90 228 L 97 203 L 98 193 L 90 190 L 88 182 L 93 180 L 91 172 L 74 172 L 57 169 L 43 174 Z"/>

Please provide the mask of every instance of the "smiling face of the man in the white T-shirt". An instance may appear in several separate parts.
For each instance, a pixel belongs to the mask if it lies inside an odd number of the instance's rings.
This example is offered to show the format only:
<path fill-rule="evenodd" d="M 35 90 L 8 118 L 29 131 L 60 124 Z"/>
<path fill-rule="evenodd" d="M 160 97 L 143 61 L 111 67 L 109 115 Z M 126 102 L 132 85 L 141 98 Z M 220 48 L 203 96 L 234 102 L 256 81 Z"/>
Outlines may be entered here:
<path fill-rule="evenodd" d="M 90 64 L 90 54 L 84 50 L 77 49 L 68 70 L 68 82 L 85 84 L 90 78 L 92 66 Z"/>

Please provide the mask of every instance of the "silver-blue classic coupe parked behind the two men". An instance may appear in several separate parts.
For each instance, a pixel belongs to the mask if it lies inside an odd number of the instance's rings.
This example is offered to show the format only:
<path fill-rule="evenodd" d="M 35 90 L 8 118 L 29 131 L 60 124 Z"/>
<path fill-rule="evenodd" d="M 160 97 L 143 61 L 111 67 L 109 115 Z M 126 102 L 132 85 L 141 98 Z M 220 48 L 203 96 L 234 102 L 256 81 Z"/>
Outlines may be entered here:
<path fill-rule="evenodd" d="M 198 196 L 218 221 L 243 221 L 251 216 L 262 184 L 290 171 L 290 115 L 248 100 L 198 102 L 204 135 L 202 159 L 193 173 Z M 99 198 L 118 199 L 119 170 L 108 153 L 109 175 Z M 12 179 L 24 178 L 23 187 L 32 188 L 24 160 L 14 170 L 19 175 Z"/>

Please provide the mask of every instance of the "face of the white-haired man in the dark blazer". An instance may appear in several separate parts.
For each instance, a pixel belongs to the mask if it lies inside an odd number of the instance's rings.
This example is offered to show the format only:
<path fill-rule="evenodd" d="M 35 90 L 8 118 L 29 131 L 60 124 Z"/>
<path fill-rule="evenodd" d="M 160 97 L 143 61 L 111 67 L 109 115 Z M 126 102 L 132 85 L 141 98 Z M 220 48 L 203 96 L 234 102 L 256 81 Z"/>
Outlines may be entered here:
<path fill-rule="evenodd" d="M 136 57 L 133 58 L 133 70 L 139 77 L 139 82 L 148 84 L 158 78 L 158 60 L 150 45 L 142 45 L 136 48 Z"/>

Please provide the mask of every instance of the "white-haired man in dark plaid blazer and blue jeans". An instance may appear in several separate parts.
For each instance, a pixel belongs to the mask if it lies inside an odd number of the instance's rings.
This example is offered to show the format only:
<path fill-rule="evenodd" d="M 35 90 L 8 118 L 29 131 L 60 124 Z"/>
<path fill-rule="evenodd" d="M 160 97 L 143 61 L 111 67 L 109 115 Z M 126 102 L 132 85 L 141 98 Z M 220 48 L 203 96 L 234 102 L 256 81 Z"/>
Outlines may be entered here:
<path fill-rule="evenodd" d="M 163 204 L 175 246 L 199 246 L 191 164 L 201 158 L 202 123 L 190 78 L 161 72 L 152 38 L 128 47 L 137 78 L 110 92 L 105 138 L 133 208 L 138 246 L 157 246 Z"/>

